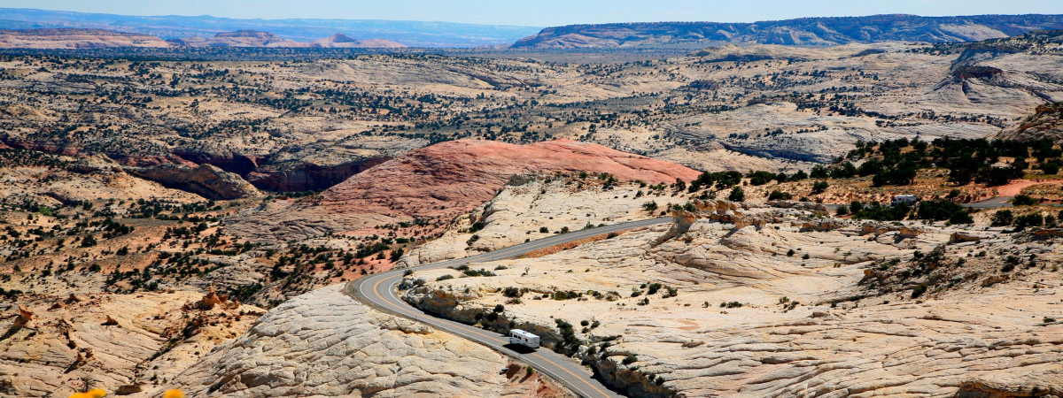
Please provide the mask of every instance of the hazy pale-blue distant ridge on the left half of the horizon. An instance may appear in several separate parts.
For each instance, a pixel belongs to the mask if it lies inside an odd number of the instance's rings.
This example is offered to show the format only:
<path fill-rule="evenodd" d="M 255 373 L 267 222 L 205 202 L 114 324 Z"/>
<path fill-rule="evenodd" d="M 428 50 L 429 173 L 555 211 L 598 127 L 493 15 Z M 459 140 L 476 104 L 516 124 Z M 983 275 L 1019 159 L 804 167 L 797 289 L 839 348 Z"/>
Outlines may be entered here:
<path fill-rule="evenodd" d="M 491 25 L 429 21 L 362 19 L 235 19 L 212 16 L 125 16 L 34 8 L 0 8 L 0 30 L 101 29 L 180 39 L 210 37 L 220 32 L 264 31 L 280 38 L 309 42 L 340 33 L 379 38 L 410 47 L 478 47 L 508 45 L 541 27 Z"/>

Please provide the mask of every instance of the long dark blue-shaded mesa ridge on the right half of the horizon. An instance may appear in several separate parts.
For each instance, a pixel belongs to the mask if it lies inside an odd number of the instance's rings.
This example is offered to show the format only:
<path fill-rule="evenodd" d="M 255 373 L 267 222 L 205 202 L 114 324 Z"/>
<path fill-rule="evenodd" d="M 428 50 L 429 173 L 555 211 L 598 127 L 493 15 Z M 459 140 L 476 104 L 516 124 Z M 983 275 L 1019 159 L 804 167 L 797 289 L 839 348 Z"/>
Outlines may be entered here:
<path fill-rule="evenodd" d="M 1063 15 L 800 18 L 750 23 L 632 22 L 546 28 L 513 48 L 621 48 L 682 42 L 836 46 L 876 41 L 977 41 L 1063 29 Z"/>

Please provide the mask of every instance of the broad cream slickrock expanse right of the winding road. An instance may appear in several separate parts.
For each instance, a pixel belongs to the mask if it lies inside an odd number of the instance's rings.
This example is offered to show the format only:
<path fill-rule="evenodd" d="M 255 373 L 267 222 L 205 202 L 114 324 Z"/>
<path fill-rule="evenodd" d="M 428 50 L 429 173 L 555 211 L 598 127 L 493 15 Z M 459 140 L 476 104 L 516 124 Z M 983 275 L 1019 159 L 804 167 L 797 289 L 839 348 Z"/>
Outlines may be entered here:
<path fill-rule="evenodd" d="M 407 278 L 424 283 L 403 297 L 461 322 L 535 330 L 639 396 L 1063 386 L 1063 293 L 1052 281 L 1063 254 L 1050 240 L 722 201 L 677 215 L 693 219 L 688 229 L 470 264 L 494 276 L 417 272 Z M 1034 260 L 1002 270 L 1016 255 Z"/>

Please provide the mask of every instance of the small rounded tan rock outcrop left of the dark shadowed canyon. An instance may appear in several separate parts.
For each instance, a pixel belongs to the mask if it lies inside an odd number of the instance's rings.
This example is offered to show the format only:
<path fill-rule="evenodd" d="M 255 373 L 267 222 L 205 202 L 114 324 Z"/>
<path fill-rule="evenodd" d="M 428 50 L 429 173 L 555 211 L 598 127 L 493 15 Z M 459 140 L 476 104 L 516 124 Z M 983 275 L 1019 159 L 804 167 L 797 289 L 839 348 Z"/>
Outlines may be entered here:
<path fill-rule="evenodd" d="M 125 172 L 210 200 L 234 200 L 259 195 L 257 189 L 239 175 L 212 165 L 187 166 L 163 163 L 147 168 L 128 167 Z"/>

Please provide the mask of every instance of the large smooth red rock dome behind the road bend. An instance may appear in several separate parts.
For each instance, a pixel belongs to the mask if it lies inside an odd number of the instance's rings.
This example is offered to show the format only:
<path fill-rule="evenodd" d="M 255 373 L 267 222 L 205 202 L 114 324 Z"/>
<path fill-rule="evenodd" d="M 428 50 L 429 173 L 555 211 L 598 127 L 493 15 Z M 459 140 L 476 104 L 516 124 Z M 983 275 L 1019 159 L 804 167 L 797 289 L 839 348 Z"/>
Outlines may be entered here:
<path fill-rule="evenodd" d="M 421 233 L 491 200 L 510 177 L 534 172 L 601 172 L 620 180 L 691 180 L 689 168 L 611 150 L 554 140 L 527 145 L 458 140 L 410 152 L 354 175 L 320 195 L 274 203 L 226 220 L 231 232 L 287 241 L 327 232 L 373 235 L 375 226 L 429 222 Z"/>

